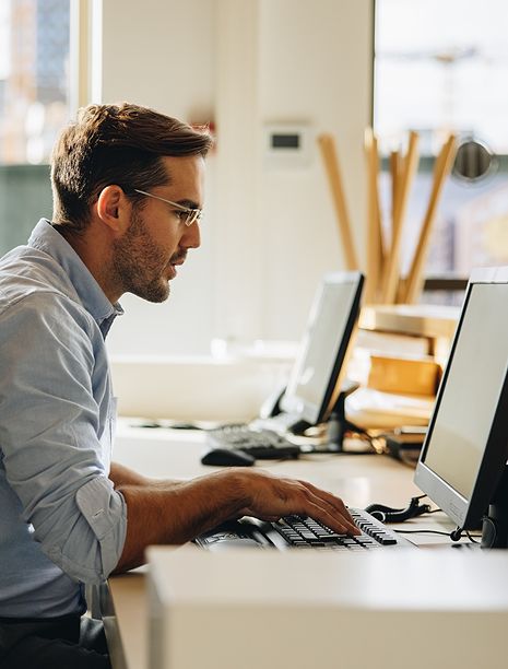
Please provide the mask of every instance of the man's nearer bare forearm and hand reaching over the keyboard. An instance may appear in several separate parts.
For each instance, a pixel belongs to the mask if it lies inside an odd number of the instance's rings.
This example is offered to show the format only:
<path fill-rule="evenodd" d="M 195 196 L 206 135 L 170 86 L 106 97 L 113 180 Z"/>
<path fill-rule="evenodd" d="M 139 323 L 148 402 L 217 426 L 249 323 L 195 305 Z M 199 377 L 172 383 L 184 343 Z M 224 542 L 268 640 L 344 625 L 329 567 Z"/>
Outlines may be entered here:
<path fill-rule="evenodd" d="M 135 480 L 135 479 L 134 479 Z M 192 481 L 150 481 L 117 488 L 127 505 L 127 538 L 115 573 L 139 566 L 150 544 L 180 544 L 228 518 L 275 520 L 310 516 L 333 531 L 358 533 L 344 503 L 305 481 L 228 468 Z"/>

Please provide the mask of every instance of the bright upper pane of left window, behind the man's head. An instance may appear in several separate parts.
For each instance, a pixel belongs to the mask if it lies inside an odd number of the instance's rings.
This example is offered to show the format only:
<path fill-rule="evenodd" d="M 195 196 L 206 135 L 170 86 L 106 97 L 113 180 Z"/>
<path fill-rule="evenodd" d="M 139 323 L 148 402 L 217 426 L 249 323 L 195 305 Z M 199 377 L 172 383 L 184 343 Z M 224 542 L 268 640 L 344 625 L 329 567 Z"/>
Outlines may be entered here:
<path fill-rule="evenodd" d="M 69 118 L 70 0 L 0 3 L 0 162 L 48 162 Z"/>

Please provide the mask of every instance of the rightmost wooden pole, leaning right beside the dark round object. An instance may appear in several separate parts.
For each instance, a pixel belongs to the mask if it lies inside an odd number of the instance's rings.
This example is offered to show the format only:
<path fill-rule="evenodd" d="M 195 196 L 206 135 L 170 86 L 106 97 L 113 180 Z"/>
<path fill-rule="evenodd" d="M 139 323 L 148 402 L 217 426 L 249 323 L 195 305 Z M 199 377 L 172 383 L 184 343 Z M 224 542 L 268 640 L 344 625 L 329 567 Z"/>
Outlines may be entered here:
<path fill-rule="evenodd" d="M 409 304 L 416 302 L 422 291 L 424 263 L 430 243 L 430 233 L 436 219 L 437 206 L 439 203 L 445 180 L 453 165 L 456 150 L 457 138 L 454 134 L 450 134 L 436 159 L 430 199 L 428 201 L 427 211 L 422 224 L 420 240 L 414 253 L 411 270 L 405 282 L 405 291 L 402 295 L 402 301 Z"/>

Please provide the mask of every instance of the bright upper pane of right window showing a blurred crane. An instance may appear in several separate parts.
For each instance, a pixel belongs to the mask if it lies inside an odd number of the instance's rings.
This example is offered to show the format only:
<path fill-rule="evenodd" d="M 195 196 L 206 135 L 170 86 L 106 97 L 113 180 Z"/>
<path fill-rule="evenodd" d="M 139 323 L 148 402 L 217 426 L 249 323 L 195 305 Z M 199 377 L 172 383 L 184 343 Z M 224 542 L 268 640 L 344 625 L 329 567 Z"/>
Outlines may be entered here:
<path fill-rule="evenodd" d="M 435 152 L 449 130 L 508 154 L 508 2 L 377 0 L 375 126 L 385 142 L 409 128 Z"/>

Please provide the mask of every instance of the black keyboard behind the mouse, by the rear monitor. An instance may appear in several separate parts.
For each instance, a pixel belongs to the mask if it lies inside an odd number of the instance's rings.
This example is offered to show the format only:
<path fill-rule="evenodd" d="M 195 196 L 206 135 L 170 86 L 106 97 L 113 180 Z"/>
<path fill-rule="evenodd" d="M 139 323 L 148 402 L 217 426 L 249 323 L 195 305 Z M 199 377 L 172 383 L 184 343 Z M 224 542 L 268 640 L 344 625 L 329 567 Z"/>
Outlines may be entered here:
<path fill-rule="evenodd" d="M 256 459 L 271 460 L 298 457 L 300 447 L 277 432 L 253 429 L 248 424 L 222 425 L 206 432 L 206 445 L 211 448 L 244 450 Z"/>

